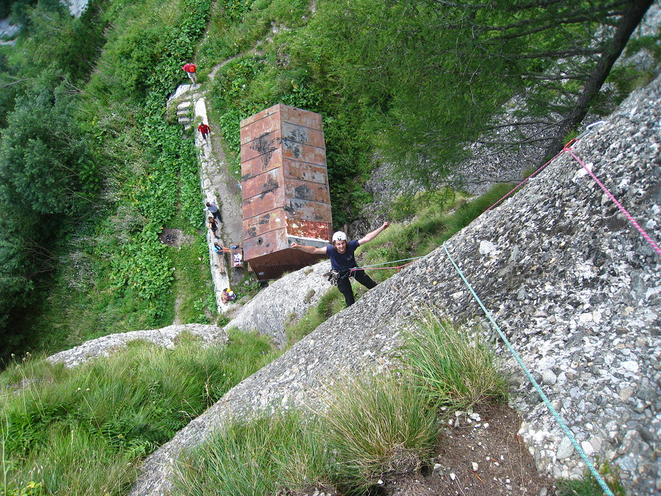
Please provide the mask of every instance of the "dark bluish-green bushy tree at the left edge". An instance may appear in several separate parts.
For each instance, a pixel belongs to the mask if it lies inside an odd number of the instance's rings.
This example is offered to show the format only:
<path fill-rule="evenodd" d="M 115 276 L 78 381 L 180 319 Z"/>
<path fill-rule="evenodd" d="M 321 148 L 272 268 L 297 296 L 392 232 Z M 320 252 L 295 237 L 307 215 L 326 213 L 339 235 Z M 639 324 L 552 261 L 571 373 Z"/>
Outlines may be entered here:
<path fill-rule="evenodd" d="M 73 213 L 96 186 L 94 164 L 74 120 L 75 93 L 57 79 L 44 74 L 32 91 L 18 96 L 9 126 L 1 131 L 0 196 L 38 214 Z"/>

